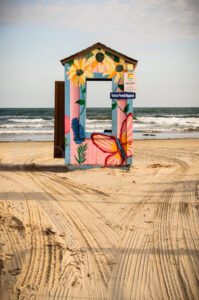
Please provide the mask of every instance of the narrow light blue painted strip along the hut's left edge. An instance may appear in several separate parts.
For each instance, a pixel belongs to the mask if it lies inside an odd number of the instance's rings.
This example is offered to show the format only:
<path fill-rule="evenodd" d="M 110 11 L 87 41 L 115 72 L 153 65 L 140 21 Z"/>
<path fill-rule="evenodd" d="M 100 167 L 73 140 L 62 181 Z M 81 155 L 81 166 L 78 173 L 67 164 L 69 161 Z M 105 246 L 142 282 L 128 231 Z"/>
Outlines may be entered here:
<path fill-rule="evenodd" d="M 68 80 L 68 75 L 66 72 L 68 71 L 69 64 L 65 64 L 65 115 L 70 119 L 70 80 Z M 70 140 L 70 131 L 65 135 L 65 139 L 67 138 L 68 146 L 65 146 L 65 163 L 70 164 L 70 156 L 71 156 L 71 140 Z"/>

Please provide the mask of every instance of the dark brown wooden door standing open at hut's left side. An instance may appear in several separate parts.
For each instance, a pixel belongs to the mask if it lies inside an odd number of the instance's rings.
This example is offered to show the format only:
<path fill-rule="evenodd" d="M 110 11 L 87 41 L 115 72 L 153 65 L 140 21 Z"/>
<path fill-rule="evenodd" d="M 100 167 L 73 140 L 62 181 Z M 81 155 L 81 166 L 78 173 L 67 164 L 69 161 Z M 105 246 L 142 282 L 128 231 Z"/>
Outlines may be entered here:
<path fill-rule="evenodd" d="M 64 102 L 64 81 L 55 81 L 54 158 L 65 157 Z"/>

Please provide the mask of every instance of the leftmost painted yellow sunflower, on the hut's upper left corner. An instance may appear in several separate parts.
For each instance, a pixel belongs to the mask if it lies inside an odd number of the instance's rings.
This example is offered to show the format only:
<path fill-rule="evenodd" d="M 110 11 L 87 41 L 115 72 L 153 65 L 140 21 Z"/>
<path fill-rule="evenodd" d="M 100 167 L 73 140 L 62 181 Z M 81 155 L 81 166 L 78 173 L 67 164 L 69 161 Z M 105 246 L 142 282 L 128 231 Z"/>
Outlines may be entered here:
<path fill-rule="evenodd" d="M 68 79 L 70 78 L 75 86 L 81 86 L 85 83 L 87 77 L 93 77 L 90 66 L 86 63 L 85 58 L 79 60 L 75 59 L 66 74 L 68 75 Z"/>

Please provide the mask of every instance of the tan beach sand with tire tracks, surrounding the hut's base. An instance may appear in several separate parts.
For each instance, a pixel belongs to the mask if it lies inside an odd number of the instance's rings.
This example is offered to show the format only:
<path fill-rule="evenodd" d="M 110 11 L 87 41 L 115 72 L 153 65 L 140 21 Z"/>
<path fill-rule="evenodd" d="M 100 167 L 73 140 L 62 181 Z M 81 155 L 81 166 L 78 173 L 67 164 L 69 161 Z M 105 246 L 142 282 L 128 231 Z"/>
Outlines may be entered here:
<path fill-rule="evenodd" d="M 0 143 L 1 299 L 199 299 L 199 139 L 134 141 L 130 171 L 66 172 Z"/>

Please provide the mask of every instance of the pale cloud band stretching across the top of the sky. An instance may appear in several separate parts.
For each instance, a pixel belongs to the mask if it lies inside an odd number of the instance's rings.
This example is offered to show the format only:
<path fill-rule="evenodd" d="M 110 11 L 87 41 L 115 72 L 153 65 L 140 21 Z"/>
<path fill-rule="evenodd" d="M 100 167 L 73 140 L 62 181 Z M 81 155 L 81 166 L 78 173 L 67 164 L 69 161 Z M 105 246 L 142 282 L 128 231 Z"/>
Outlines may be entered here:
<path fill-rule="evenodd" d="M 72 2 L 72 3 L 71 3 Z M 167 41 L 199 38 L 198 0 L 1 1 L 1 24 L 36 24 L 98 39 Z"/>

